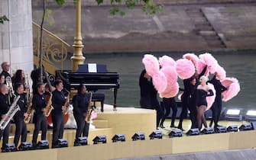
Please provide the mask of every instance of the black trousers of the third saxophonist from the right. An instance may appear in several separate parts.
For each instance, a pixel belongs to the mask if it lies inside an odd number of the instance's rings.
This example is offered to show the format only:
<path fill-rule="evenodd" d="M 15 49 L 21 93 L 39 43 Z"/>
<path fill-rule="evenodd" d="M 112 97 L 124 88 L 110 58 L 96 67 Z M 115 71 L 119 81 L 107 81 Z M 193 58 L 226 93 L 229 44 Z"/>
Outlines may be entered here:
<path fill-rule="evenodd" d="M 33 133 L 33 139 L 32 143 L 33 146 L 37 144 L 37 136 L 39 133 L 39 130 L 42 130 L 41 140 L 46 139 L 46 133 L 47 133 L 47 118 L 43 114 L 34 114 L 35 122 L 34 122 L 34 133 Z"/>

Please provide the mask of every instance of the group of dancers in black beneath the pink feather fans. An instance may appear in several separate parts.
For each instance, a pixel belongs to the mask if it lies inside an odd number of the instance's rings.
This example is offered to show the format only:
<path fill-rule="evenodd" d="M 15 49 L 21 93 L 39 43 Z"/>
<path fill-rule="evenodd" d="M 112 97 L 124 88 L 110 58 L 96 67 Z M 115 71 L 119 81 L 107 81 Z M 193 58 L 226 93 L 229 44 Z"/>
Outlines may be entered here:
<path fill-rule="evenodd" d="M 139 79 L 139 85 L 141 88 L 141 107 L 147 109 L 154 109 L 157 111 L 157 129 L 158 127 L 164 128 L 164 120 L 169 116 L 170 109 L 173 110 L 171 116 L 170 127 L 179 128 L 183 130 L 183 119 L 186 118 L 188 110 L 190 110 L 190 120 L 191 128 L 199 128 L 201 130 L 202 125 L 207 127 L 205 110 L 207 107 L 207 96 L 212 96 L 213 91 L 209 88 L 207 83 L 212 83 L 215 88 L 215 101 L 212 104 L 212 120 L 209 126 L 212 126 L 214 123 L 214 128 L 216 129 L 219 126 L 219 118 L 222 111 L 222 91 L 225 91 L 225 88 L 219 79 L 217 78 L 217 73 L 212 77 L 211 80 L 208 80 L 204 76 L 206 72 L 206 67 L 201 73 L 195 73 L 191 78 L 183 80 L 183 87 L 180 88 L 180 91 L 183 91 L 181 95 L 181 114 L 180 121 L 178 126 L 175 126 L 174 122 L 177 116 L 177 101 L 175 98 L 163 98 L 163 101 L 160 102 L 157 99 L 157 91 L 154 88 L 152 79 L 147 75 L 146 70 L 144 69 L 141 72 Z M 161 107 L 163 106 L 163 107 Z M 164 114 L 165 113 L 165 114 Z"/>

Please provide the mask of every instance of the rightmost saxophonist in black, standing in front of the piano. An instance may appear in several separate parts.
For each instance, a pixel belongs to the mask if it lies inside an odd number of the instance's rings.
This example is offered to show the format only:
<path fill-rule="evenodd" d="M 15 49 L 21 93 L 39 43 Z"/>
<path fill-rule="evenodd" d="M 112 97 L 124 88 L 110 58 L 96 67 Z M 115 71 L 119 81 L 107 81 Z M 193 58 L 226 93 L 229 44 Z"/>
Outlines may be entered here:
<path fill-rule="evenodd" d="M 77 94 L 73 97 L 73 114 L 76 120 L 76 139 L 74 146 L 79 146 L 78 138 L 82 135 L 88 137 L 89 123 L 86 122 L 86 113 L 89 105 L 89 96 L 86 94 L 86 86 L 81 84 Z"/>

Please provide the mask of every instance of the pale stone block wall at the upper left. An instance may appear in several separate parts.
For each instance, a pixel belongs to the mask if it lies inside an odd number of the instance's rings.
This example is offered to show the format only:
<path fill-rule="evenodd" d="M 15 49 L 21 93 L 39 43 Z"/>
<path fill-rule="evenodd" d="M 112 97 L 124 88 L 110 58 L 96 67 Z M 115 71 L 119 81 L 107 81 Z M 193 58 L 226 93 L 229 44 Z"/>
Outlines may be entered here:
<path fill-rule="evenodd" d="M 33 69 L 31 0 L 0 1 L 0 15 L 10 21 L 0 24 L 0 63 L 8 61 L 11 72 Z M 0 69 L 2 70 L 2 69 Z"/>

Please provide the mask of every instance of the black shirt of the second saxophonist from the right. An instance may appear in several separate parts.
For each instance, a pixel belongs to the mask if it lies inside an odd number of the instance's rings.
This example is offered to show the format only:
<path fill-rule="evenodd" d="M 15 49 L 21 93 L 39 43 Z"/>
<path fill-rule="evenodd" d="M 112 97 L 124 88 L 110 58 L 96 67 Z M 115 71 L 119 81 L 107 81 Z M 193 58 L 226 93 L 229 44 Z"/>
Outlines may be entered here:
<path fill-rule="evenodd" d="M 53 98 L 52 104 L 54 110 L 52 111 L 53 114 L 62 114 L 62 107 L 65 104 L 65 95 L 62 91 L 53 91 Z"/>

